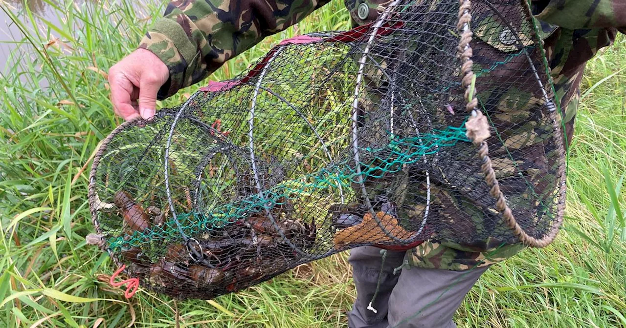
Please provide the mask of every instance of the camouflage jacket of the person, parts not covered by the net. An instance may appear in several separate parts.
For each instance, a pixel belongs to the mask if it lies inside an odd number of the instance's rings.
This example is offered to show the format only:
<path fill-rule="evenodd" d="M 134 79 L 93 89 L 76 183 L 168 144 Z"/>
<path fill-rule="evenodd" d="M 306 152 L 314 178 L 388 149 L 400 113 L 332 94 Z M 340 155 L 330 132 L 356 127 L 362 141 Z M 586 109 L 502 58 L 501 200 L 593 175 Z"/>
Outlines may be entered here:
<path fill-rule="evenodd" d="M 229 59 L 259 43 L 265 36 L 301 21 L 329 0 L 176 0 L 165 17 L 146 33 L 140 47 L 160 57 L 170 79 L 158 97 L 172 96 L 182 87 L 202 81 Z M 345 0 L 353 26 L 376 19 L 389 0 Z M 585 63 L 612 44 L 617 31 L 626 31 L 626 0 L 533 0 L 533 14 L 541 21 L 540 36 L 564 109 L 566 137 L 572 137 L 578 107 L 578 85 Z M 480 32 L 476 35 L 481 37 Z M 503 40 L 483 40 L 506 51 Z M 409 251 L 414 266 L 461 270 L 485 266 L 513 256 L 518 244 L 471 249 L 428 242 Z"/>

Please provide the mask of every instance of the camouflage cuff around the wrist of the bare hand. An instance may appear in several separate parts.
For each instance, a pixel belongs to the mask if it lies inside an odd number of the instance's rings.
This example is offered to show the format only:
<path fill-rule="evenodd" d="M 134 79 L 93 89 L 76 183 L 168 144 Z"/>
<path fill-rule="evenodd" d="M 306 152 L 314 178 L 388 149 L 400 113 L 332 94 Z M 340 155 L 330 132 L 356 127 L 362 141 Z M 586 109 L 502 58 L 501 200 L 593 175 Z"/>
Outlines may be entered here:
<path fill-rule="evenodd" d="M 180 25 L 170 19 L 160 19 L 146 33 L 139 47 L 159 57 L 170 71 L 170 77 L 158 91 L 157 99 L 173 96 L 187 86 L 187 67 L 197 51 Z"/>

